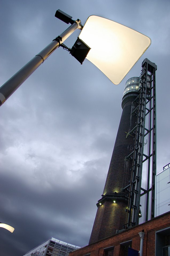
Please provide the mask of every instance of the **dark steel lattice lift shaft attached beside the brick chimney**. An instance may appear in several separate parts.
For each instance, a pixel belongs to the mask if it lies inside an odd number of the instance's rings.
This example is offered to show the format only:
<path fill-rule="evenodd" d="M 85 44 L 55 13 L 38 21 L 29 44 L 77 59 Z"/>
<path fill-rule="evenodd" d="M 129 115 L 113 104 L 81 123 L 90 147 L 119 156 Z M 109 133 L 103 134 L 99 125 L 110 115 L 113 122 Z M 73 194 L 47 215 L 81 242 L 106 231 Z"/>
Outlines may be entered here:
<path fill-rule="evenodd" d="M 140 198 L 144 196 L 143 220 L 154 217 L 156 175 L 156 86 L 155 63 L 145 59 L 142 63 L 138 103 L 131 114 L 137 116 L 136 126 L 129 135 L 134 136 L 134 148 L 127 159 L 133 159 L 131 181 L 123 189 L 128 194 L 127 217 L 124 228 L 139 224 Z M 133 104 L 132 103 L 132 104 Z M 135 104 L 133 104 L 135 105 Z M 146 174 L 146 177 L 144 175 Z M 144 188 L 145 186 L 145 188 Z M 143 200 L 144 201 L 144 200 Z"/>

